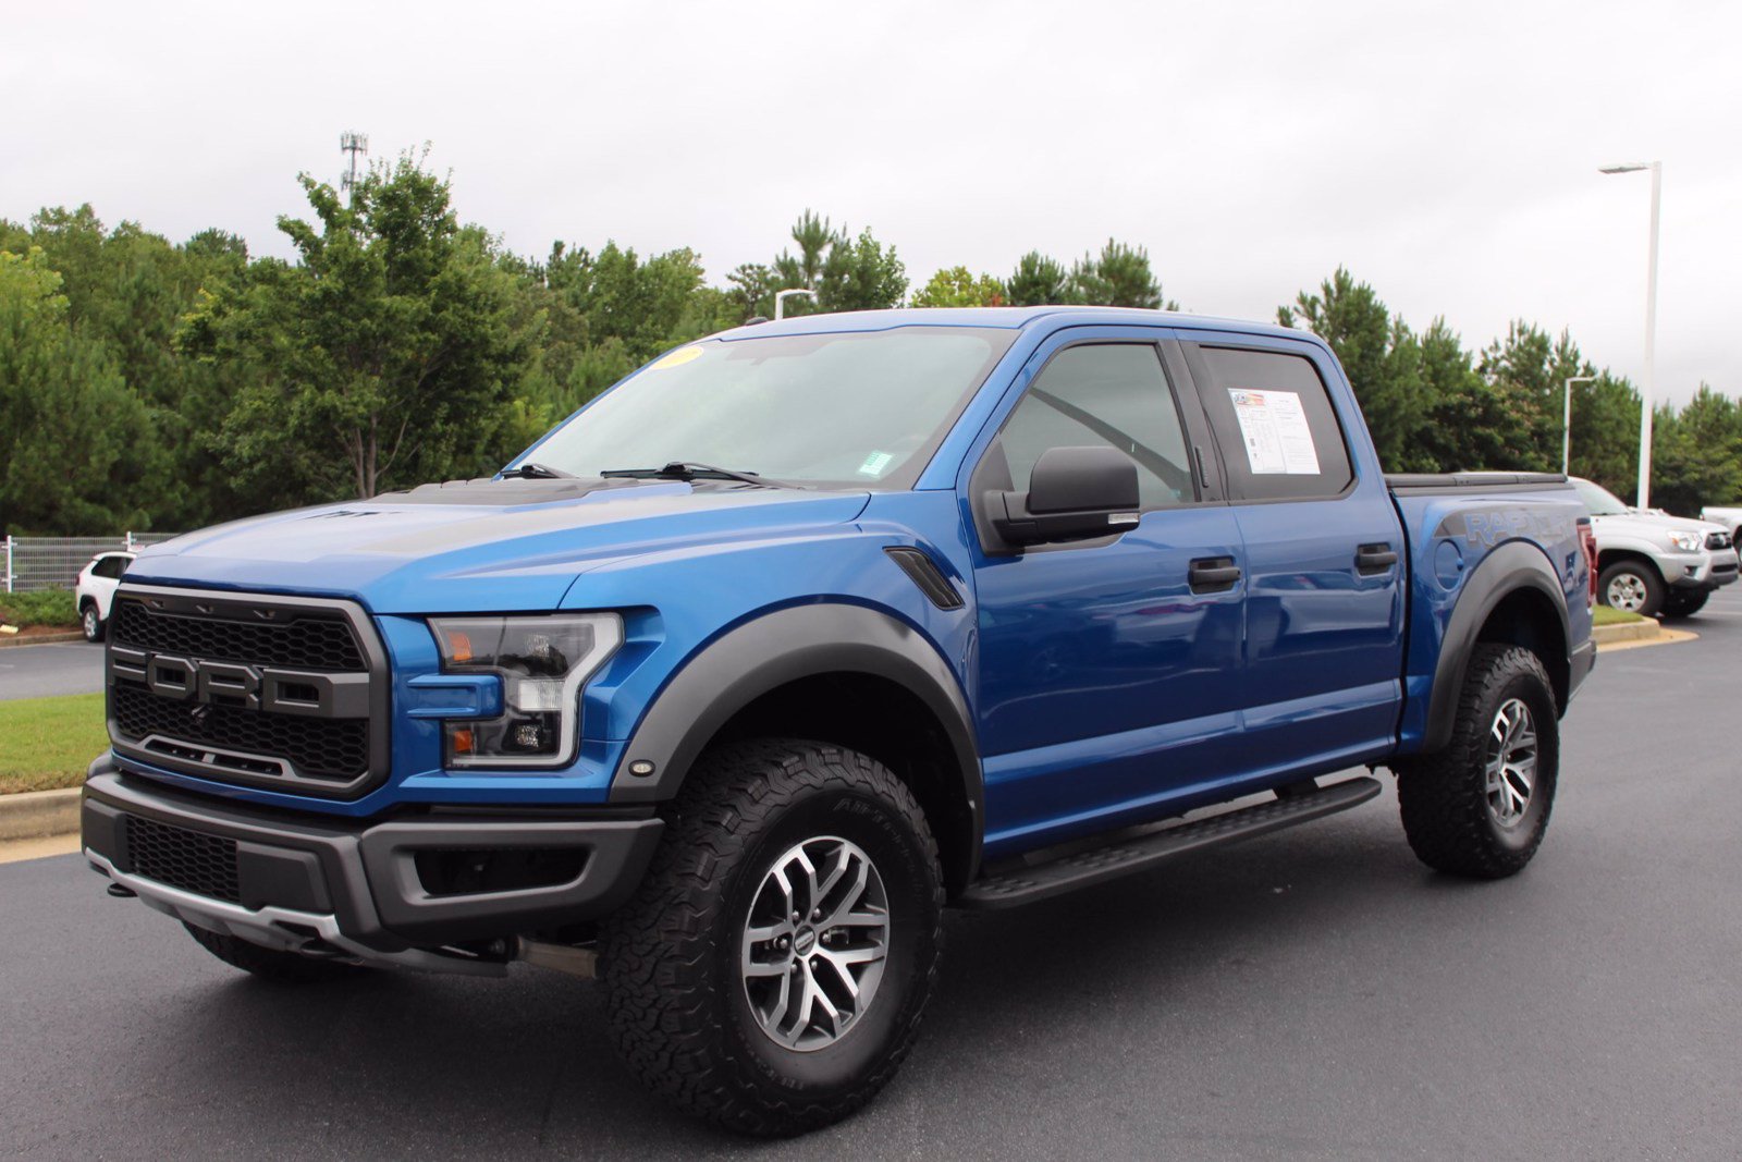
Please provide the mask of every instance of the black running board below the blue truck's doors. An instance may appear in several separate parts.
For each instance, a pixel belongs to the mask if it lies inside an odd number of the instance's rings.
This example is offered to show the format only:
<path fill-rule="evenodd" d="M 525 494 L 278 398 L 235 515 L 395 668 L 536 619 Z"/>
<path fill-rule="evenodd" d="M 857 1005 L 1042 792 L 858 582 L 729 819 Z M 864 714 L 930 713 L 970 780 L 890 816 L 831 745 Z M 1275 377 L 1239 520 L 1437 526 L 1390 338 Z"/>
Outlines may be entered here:
<path fill-rule="evenodd" d="M 1251 840 L 1270 834 L 1298 822 L 1312 822 L 1326 815 L 1334 815 L 1350 807 L 1361 807 L 1380 793 L 1378 779 L 1350 779 L 1329 787 L 1306 791 L 1305 787 L 1256 807 L 1223 812 L 1209 819 L 1150 831 L 1132 840 L 1120 840 L 1106 847 L 1064 855 L 1035 868 L 1017 868 L 1003 875 L 976 880 L 956 897 L 956 908 L 984 911 L 991 908 L 1016 908 L 1031 904 L 1036 899 L 1063 895 L 1077 888 L 1106 883 L 1134 871 L 1144 871 L 1155 864 L 1185 855 L 1205 847 L 1219 847 L 1239 840 Z"/>

